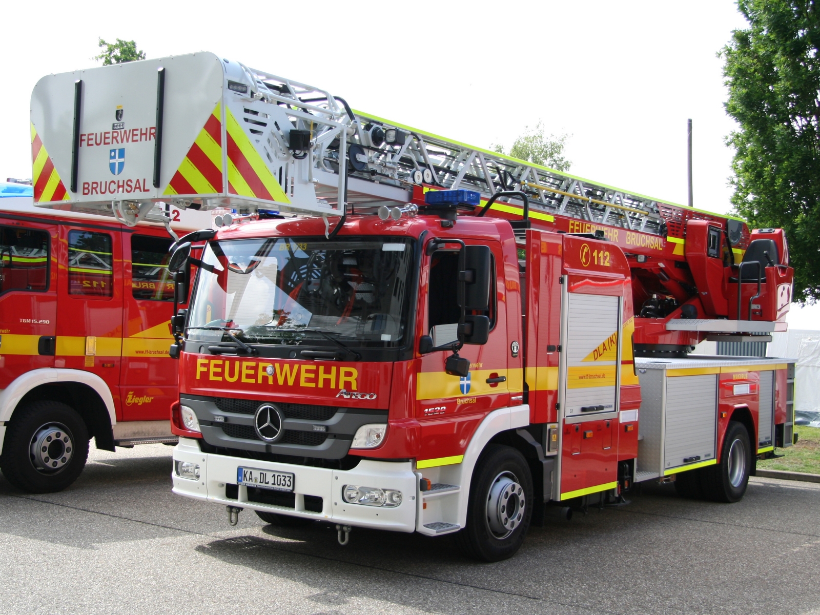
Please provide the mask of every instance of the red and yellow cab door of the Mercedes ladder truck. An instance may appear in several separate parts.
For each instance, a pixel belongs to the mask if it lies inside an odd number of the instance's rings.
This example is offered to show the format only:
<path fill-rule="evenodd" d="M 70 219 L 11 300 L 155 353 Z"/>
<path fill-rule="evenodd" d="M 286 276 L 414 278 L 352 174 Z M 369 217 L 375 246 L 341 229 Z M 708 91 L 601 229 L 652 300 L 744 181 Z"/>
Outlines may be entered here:
<path fill-rule="evenodd" d="M 470 360 L 466 377 L 449 376 L 445 372 L 444 362 L 452 354 L 449 350 L 425 354 L 419 360 L 416 417 L 421 424 L 419 462 L 426 466 L 460 462 L 459 456 L 463 455 L 484 417 L 510 404 L 508 290 L 501 244 L 468 239 L 465 244 L 490 247 L 493 276 L 490 309 L 486 312 L 490 317 L 490 337 L 487 344 L 465 344 L 459 350 L 461 357 Z M 419 333 L 430 335 L 435 345 L 446 344 L 457 339 L 458 244 L 446 244 L 422 262 L 419 309 L 423 324 Z M 516 372 L 519 378 L 520 371 L 519 368 Z"/>

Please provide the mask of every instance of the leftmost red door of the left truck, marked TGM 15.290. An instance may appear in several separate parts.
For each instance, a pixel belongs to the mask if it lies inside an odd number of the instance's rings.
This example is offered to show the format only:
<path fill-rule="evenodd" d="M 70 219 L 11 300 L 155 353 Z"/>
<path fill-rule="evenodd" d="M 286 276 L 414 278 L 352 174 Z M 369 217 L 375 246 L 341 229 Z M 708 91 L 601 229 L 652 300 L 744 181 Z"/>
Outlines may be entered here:
<path fill-rule="evenodd" d="M 57 225 L 0 217 L 0 389 L 54 366 Z"/>

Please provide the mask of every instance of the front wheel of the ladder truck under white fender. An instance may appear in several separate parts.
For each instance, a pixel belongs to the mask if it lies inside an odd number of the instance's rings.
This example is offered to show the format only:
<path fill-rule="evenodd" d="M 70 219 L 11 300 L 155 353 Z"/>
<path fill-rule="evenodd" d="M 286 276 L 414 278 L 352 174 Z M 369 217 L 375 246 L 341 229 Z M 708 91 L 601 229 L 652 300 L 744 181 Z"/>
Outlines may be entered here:
<path fill-rule="evenodd" d="M 472 473 L 467 526 L 455 535 L 459 549 L 485 562 L 512 558 L 524 542 L 534 504 L 530 467 L 523 455 L 491 444 Z"/>

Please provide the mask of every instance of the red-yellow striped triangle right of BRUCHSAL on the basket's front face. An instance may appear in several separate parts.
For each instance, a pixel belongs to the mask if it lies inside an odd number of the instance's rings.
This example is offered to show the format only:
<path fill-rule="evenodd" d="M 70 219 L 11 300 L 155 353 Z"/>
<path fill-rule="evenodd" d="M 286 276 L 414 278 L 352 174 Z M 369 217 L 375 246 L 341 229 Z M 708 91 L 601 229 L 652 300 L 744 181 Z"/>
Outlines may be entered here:
<path fill-rule="evenodd" d="M 217 103 L 162 194 L 222 192 L 221 118 L 221 105 Z"/>

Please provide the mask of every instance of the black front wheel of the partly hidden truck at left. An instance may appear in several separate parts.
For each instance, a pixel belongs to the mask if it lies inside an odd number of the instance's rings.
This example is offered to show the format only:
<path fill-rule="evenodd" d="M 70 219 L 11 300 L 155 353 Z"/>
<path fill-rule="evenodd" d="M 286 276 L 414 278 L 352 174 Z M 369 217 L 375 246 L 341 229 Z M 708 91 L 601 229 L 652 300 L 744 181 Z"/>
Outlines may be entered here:
<path fill-rule="evenodd" d="M 17 489 L 48 494 L 76 481 L 88 457 L 89 431 L 74 408 L 39 401 L 11 416 L 0 469 Z"/>

